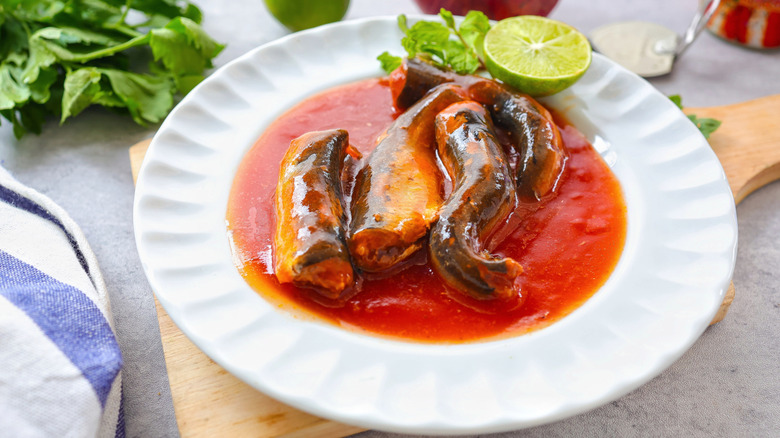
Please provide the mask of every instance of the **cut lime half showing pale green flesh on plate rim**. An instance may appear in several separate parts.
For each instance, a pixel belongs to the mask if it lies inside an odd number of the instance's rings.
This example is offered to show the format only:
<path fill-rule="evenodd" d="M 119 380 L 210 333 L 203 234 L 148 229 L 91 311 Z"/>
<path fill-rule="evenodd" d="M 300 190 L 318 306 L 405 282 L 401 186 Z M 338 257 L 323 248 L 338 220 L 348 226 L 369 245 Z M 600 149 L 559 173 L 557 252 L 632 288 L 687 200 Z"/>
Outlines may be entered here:
<path fill-rule="evenodd" d="M 490 74 L 532 96 L 569 87 L 585 74 L 590 60 L 585 35 L 549 18 L 507 18 L 485 35 L 485 64 Z"/>

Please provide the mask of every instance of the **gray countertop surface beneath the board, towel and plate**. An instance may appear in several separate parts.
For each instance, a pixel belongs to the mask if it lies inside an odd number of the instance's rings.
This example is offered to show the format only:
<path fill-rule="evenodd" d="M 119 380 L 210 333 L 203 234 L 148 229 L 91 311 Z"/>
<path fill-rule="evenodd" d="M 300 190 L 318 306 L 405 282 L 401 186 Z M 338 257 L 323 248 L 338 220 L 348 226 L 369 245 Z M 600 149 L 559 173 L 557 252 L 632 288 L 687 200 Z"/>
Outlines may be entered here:
<path fill-rule="evenodd" d="M 261 0 L 201 0 L 205 27 L 227 42 L 231 59 L 287 32 Z M 584 33 L 621 20 L 644 20 L 682 32 L 697 2 L 562 0 L 551 17 Z M 347 19 L 417 13 L 410 0 L 353 0 Z M 687 106 L 724 105 L 780 93 L 780 52 L 745 50 L 709 33 L 674 72 L 651 81 Z M 780 128 L 780 116 L 777 126 Z M 64 126 L 50 121 L 40 136 L 13 138 L 0 127 L 0 162 L 45 193 L 80 224 L 111 295 L 125 358 L 124 406 L 129 437 L 176 436 L 154 300 L 135 250 L 133 183 L 128 146 L 151 136 L 128 117 L 90 109 Z M 778 145 L 780 147 L 780 145 Z M 737 297 L 675 364 L 631 394 L 557 423 L 497 436 L 778 436 L 780 435 L 780 183 L 737 209 Z M 396 436 L 377 431 L 364 438 Z"/>

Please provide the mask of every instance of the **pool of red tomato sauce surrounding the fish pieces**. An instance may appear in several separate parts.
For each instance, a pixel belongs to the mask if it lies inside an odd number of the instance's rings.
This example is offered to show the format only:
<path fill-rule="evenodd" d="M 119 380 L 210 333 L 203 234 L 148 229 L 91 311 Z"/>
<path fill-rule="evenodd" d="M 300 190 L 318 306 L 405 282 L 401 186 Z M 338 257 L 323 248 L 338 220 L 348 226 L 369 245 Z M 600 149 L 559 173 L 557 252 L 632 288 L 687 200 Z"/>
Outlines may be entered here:
<path fill-rule="evenodd" d="M 464 302 L 425 261 L 385 278 L 363 279 L 343 305 L 279 284 L 273 275 L 274 190 L 290 141 L 313 130 L 344 128 L 367 156 L 377 135 L 398 116 L 387 84 L 343 85 L 308 98 L 273 122 L 244 157 L 231 190 L 227 223 L 239 271 L 255 291 L 293 314 L 357 331 L 418 342 L 498 339 L 538 330 L 571 313 L 607 280 L 626 234 L 619 183 L 585 138 L 556 116 L 569 151 L 557 194 L 520 204 L 493 253 L 524 269 L 523 303 Z M 505 137 L 505 136 L 504 136 Z M 463 303 L 462 303 L 463 302 Z M 491 308 L 492 306 L 492 308 Z"/>

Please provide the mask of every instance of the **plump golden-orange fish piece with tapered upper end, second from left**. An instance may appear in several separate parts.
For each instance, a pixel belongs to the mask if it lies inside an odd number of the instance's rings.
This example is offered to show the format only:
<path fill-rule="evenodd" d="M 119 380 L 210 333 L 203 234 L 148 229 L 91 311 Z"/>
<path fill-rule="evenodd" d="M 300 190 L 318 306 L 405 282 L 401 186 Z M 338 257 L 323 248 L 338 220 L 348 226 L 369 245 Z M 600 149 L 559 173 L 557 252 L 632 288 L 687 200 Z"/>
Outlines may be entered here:
<path fill-rule="evenodd" d="M 434 120 L 463 95 L 454 85 L 435 87 L 380 136 L 352 195 L 347 244 L 357 268 L 386 270 L 424 243 L 443 202 Z"/>

